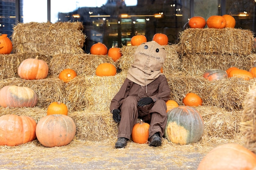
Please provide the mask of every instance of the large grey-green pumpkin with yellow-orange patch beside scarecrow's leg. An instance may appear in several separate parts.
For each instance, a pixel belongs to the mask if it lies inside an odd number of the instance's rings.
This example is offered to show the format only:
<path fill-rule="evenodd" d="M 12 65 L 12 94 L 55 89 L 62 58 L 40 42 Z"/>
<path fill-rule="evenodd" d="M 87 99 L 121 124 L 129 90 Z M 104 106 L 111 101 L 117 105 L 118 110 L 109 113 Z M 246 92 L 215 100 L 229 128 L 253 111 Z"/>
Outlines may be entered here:
<path fill-rule="evenodd" d="M 204 132 L 202 116 L 194 107 L 179 106 L 167 112 L 164 136 L 175 144 L 190 144 L 199 141 Z"/>

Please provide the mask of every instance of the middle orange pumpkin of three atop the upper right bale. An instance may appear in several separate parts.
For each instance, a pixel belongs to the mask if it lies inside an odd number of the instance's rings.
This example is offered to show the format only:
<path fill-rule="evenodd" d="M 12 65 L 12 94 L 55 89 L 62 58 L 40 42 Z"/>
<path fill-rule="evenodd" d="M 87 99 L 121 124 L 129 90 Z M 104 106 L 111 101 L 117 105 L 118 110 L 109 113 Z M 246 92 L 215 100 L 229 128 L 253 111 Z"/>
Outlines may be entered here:
<path fill-rule="evenodd" d="M 217 29 L 224 28 L 226 26 L 226 23 L 227 22 L 225 18 L 220 15 L 212 15 L 206 21 L 208 28 L 217 28 Z"/>

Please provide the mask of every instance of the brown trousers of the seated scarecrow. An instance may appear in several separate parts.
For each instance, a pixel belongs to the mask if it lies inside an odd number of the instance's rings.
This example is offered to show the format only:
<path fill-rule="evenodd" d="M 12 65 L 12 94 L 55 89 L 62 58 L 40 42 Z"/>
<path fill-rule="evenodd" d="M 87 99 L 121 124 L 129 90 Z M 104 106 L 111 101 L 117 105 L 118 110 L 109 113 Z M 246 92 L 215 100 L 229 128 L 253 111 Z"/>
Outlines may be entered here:
<path fill-rule="evenodd" d="M 154 102 L 153 107 L 145 115 L 151 115 L 149 120 L 149 138 L 153 136 L 156 132 L 160 133 L 160 137 L 164 135 L 164 129 L 167 124 L 167 114 L 166 114 L 166 103 L 162 99 L 158 99 Z M 117 137 L 126 137 L 130 139 L 132 134 L 132 128 L 137 122 L 139 117 L 137 108 L 137 97 L 128 96 L 120 106 L 121 110 L 121 121 L 118 128 Z M 140 116 L 142 116 L 140 112 Z"/>

